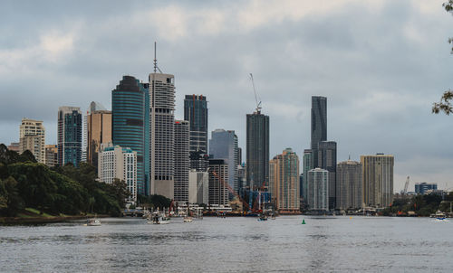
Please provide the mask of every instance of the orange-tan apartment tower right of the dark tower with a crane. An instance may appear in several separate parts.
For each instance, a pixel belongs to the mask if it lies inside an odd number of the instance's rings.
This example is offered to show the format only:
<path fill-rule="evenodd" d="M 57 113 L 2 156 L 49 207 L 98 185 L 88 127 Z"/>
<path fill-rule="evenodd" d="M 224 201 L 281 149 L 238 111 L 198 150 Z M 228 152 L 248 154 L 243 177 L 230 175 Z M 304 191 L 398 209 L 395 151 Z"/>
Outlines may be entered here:
<path fill-rule="evenodd" d="M 276 209 L 285 213 L 299 212 L 299 156 L 286 148 L 270 161 L 269 169 L 269 191 Z"/>

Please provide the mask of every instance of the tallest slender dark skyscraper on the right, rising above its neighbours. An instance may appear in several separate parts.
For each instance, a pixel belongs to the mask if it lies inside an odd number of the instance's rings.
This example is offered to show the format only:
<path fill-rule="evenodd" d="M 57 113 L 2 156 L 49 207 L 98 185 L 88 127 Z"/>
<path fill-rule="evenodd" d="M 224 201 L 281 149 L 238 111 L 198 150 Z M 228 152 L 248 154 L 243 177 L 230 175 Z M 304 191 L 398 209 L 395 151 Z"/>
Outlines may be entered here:
<path fill-rule="evenodd" d="M 319 166 L 318 143 L 327 140 L 327 98 L 312 97 L 312 151 L 313 168 Z"/>

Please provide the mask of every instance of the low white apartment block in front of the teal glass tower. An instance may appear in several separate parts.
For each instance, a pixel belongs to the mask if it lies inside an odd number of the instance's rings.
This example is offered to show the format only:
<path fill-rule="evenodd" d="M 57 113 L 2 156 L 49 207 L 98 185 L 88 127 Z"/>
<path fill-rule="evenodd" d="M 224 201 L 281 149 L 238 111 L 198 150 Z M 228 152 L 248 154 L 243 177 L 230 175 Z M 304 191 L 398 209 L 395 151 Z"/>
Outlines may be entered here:
<path fill-rule="evenodd" d="M 126 201 L 137 202 L 137 152 L 112 143 L 101 144 L 98 175 L 105 184 L 112 184 L 115 178 L 126 183 L 130 192 Z"/>

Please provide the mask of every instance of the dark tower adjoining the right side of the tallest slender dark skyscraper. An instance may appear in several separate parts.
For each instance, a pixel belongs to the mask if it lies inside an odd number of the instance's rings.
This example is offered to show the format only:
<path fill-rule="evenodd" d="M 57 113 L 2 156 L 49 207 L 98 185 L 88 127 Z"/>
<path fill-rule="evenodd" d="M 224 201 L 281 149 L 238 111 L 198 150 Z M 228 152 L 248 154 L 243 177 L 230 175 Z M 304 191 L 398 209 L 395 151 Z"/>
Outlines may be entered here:
<path fill-rule="evenodd" d="M 335 209 L 337 143 L 334 141 L 318 142 L 318 167 L 329 171 L 329 209 Z"/>

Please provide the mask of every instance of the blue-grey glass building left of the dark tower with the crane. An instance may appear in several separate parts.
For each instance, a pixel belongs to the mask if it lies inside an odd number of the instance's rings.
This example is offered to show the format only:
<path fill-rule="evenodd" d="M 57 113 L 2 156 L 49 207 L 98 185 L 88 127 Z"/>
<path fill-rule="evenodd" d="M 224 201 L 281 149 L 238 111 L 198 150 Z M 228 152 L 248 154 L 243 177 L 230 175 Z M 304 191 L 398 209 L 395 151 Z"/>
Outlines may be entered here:
<path fill-rule="evenodd" d="M 211 132 L 209 156 L 224 159 L 228 165 L 228 184 L 237 193 L 237 136 L 233 130 L 216 129 Z"/>

